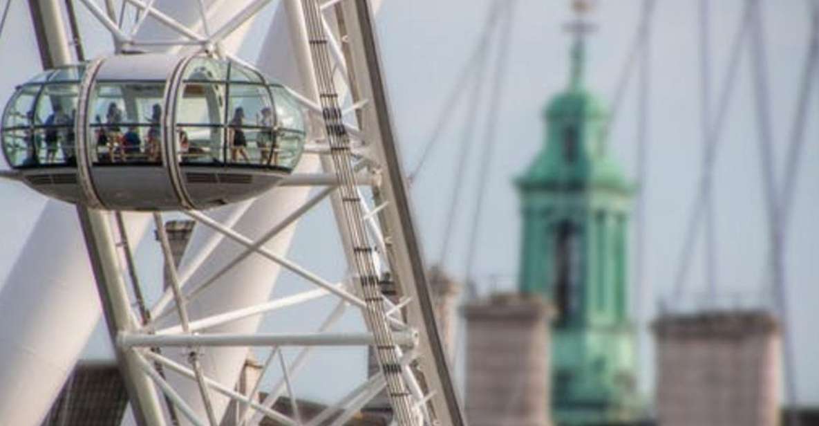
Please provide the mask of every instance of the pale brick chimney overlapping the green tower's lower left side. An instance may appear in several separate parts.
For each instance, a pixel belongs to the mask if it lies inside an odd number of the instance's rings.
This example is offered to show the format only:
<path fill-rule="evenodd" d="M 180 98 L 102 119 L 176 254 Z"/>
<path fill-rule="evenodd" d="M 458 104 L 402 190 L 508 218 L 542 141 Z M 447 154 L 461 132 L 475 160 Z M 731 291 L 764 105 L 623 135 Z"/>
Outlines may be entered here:
<path fill-rule="evenodd" d="M 495 295 L 464 306 L 471 426 L 550 426 L 549 320 L 541 297 Z"/>

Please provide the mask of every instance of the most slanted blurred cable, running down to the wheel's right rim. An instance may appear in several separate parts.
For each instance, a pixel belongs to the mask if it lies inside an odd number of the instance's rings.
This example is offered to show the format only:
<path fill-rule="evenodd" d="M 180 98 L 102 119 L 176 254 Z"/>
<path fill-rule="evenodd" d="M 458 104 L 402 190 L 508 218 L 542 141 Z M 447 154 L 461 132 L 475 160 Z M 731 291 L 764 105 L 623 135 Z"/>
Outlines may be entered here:
<path fill-rule="evenodd" d="M 483 63 L 486 61 L 486 46 L 490 42 L 491 32 L 495 29 L 495 25 L 498 20 L 499 14 L 497 12 L 500 8 L 500 2 L 502 1 L 495 0 L 495 2 L 492 3 L 492 7 L 489 10 L 489 15 L 486 16 L 486 21 L 483 25 L 481 38 L 478 39 L 477 45 L 475 46 L 472 54 L 464 64 L 464 68 L 460 70 L 458 79 L 455 80 L 455 87 L 453 87 L 452 92 L 450 92 L 450 97 L 448 97 L 446 102 L 444 102 L 444 107 L 438 114 L 438 121 L 435 127 L 432 129 L 432 134 L 430 134 L 427 144 L 424 145 L 423 149 L 421 150 L 421 156 L 418 164 L 416 164 L 412 171 L 407 175 L 409 182 L 413 182 L 415 177 L 418 176 L 423 165 L 426 163 L 428 157 L 432 153 L 433 148 L 437 145 L 436 143 L 438 138 L 441 137 L 444 127 L 447 123 L 450 123 L 450 120 L 447 119 L 451 117 L 451 112 L 455 111 L 457 102 L 459 101 L 461 95 L 464 94 L 464 88 L 470 80 L 469 77 L 474 75 L 474 66 L 477 64 L 479 67 L 478 71 L 484 67 Z"/>

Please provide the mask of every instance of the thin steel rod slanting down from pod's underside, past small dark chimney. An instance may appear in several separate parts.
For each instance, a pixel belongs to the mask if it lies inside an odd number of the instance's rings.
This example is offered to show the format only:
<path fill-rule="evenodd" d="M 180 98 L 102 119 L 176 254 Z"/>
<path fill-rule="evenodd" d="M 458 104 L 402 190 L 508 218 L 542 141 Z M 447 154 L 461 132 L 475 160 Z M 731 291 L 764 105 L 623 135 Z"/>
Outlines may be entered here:
<path fill-rule="evenodd" d="M 156 224 L 156 234 L 159 236 L 160 246 L 162 247 L 162 255 L 165 258 L 165 271 L 168 274 L 170 287 L 174 290 L 174 299 L 176 301 L 176 310 L 179 313 L 179 321 L 182 324 L 182 329 L 185 333 L 190 333 L 188 324 L 188 310 L 185 308 L 185 301 L 182 297 L 182 289 L 179 287 L 179 276 L 176 274 L 176 265 L 174 265 L 174 255 L 170 251 L 170 242 L 168 242 L 168 234 L 165 232 L 165 223 L 162 221 L 162 216 L 159 213 L 154 213 L 154 224 Z M 150 347 L 158 347 L 160 345 L 150 345 Z M 196 372 L 197 383 L 199 391 L 201 392 L 202 402 L 205 405 L 207 417 L 210 420 L 210 426 L 218 426 L 219 421 L 216 420 L 216 415 L 213 411 L 213 404 L 210 401 L 210 394 L 205 385 L 204 374 L 202 374 L 201 364 L 199 362 L 199 354 L 194 345 L 185 345 L 189 347 L 190 353 L 188 355 L 188 362 L 191 363 L 193 371 Z"/>

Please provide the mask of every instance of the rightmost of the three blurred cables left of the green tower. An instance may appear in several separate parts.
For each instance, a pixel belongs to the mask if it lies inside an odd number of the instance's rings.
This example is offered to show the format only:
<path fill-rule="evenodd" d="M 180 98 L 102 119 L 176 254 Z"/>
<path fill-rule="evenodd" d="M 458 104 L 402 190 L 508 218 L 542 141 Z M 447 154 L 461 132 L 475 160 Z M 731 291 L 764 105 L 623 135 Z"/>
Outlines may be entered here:
<path fill-rule="evenodd" d="M 512 16 L 514 15 L 514 7 L 517 5 L 517 0 L 510 0 L 505 2 L 505 26 L 501 29 L 500 39 L 498 40 L 498 57 L 497 66 L 495 67 L 495 78 L 492 81 L 491 91 L 489 95 L 490 105 L 495 111 L 500 111 L 500 106 L 503 101 L 503 84 L 506 81 L 506 70 L 509 65 L 509 50 L 512 35 Z M 475 200 L 475 207 L 473 210 L 472 229 L 468 235 L 468 256 L 466 260 L 466 286 L 469 297 L 477 296 L 477 289 L 473 280 L 473 266 L 475 255 L 477 254 L 477 236 L 481 225 L 483 215 L 483 199 L 486 196 L 486 184 L 489 182 L 489 177 L 492 172 L 492 152 L 497 144 L 497 136 L 495 135 L 497 129 L 497 121 L 499 114 L 487 114 L 486 127 L 484 129 L 484 143 L 481 161 L 478 163 L 478 184 L 477 197 Z"/>

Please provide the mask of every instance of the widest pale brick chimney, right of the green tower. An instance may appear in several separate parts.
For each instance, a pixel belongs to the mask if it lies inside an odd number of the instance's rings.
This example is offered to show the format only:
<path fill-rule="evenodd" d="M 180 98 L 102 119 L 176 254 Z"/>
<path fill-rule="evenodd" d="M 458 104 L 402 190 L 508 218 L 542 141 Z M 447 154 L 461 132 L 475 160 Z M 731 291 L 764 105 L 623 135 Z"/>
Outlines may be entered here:
<path fill-rule="evenodd" d="M 659 424 L 780 424 L 780 331 L 772 315 L 663 315 L 654 334 Z"/>

